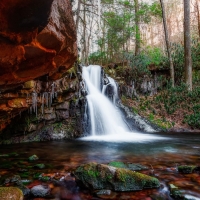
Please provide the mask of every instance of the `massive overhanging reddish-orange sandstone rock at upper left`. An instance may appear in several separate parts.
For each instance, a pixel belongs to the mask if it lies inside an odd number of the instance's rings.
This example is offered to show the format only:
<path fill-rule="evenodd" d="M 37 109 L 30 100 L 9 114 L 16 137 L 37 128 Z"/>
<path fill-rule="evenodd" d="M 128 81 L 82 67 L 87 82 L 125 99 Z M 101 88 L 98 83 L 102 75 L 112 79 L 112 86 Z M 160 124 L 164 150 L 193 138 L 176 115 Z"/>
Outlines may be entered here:
<path fill-rule="evenodd" d="M 77 56 L 70 0 L 0 1 L 0 89 L 49 75 L 59 79 Z"/>

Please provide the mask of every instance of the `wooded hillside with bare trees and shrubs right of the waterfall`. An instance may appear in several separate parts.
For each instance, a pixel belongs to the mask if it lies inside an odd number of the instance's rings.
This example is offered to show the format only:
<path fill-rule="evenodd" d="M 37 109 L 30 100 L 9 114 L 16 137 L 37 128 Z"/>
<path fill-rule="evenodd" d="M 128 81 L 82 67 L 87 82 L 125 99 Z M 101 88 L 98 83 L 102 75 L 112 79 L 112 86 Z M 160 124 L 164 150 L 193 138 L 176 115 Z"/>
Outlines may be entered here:
<path fill-rule="evenodd" d="M 80 62 L 105 68 L 124 104 L 163 129 L 200 130 L 200 1 L 72 1 Z"/>

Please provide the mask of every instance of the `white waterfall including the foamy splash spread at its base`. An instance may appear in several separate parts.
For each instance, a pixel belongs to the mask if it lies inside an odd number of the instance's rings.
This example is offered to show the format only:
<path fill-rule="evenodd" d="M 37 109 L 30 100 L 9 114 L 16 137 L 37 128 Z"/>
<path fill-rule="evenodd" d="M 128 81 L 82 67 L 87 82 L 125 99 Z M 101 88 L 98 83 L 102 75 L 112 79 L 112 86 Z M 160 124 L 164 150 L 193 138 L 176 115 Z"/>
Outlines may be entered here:
<path fill-rule="evenodd" d="M 161 137 L 152 134 L 131 132 L 119 108 L 116 106 L 119 100 L 117 85 L 110 77 L 106 77 L 107 81 L 105 85 L 102 85 L 102 70 L 100 66 L 90 65 L 83 67 L 82 77 L 87 90 L 86 98 L 91 135 L 82 138 L 83 140 L 142 142 L 161 139 Z"/>

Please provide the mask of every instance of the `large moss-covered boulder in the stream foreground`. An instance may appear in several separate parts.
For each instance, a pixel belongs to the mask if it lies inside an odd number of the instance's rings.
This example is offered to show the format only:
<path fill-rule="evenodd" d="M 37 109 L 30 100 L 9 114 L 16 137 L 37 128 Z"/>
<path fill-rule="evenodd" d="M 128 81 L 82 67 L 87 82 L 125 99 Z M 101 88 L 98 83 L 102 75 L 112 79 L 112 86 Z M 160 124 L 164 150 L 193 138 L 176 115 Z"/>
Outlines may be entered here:
<path fill-rule="evenodd" d="M 79 166 L 74 175 L 78 183 L 92 190 L 135 191 L 160 186 L 154 177 L 97 163 Z"/>

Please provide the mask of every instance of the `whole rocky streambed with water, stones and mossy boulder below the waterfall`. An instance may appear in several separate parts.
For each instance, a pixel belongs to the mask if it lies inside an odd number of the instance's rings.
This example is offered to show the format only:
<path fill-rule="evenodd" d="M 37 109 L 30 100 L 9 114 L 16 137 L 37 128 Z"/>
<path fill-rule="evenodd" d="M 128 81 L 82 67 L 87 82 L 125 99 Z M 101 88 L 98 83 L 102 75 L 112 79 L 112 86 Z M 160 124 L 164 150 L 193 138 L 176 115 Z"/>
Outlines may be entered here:
<path fill-rule="evenodd" d="M 199 136 L 159 137 L 131 143 L 79 139 L 1 146 L 0 195 L 14 193 L 28 200 L 199 199 Z"/>

